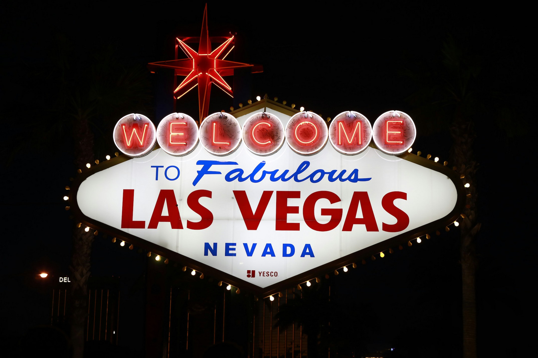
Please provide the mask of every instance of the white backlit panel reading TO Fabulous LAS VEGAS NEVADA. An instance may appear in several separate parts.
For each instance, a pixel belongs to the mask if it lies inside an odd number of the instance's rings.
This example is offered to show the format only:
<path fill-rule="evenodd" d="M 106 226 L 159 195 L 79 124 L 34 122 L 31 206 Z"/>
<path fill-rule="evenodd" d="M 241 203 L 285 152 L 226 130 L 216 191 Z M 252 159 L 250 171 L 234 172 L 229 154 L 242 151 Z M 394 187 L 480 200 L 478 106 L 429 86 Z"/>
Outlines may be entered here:
<path fill-rule="evenodd" d="M 199 145 L 185 156 L 157 149 L 95 172 L 76 201 L 90 222 L 267 293 L 441 218 L 453 221 L 458 191 L 440 171 L 373 147 L 349 156 L 326 145 L 303 156 L 284 145 L 259 156 L 240 145 L 223 157 Z"/>

